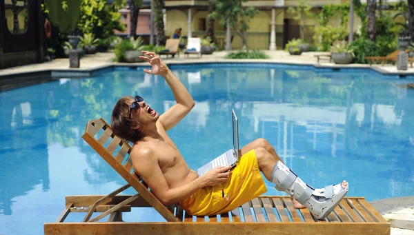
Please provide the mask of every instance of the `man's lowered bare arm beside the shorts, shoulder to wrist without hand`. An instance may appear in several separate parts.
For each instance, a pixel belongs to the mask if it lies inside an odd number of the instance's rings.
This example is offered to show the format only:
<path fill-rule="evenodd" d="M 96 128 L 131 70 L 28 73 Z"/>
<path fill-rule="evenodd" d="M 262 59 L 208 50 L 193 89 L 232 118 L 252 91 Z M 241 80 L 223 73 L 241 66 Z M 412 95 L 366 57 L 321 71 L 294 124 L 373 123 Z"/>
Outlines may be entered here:
<path fill-rule="evenodd" d="M 139 149 L 131 154 L 135 171 L 164 205 L 179 203 L 206 186 L 202 178 L 196 178 L 186 185 L 170 189 L 152 150 Z"/>

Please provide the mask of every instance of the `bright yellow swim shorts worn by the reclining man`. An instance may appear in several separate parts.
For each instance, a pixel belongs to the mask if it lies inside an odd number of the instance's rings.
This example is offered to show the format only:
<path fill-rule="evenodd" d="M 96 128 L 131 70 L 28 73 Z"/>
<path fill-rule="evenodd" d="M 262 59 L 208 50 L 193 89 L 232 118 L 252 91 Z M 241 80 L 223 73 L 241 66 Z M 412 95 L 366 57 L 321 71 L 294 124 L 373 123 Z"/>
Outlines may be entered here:
<path fill-rule="evenodd" d="M 181 207 L 193 216 L 222 214 L 267 192 L 255 150 L 241 156 L 231 171 L 226 183 L 202 188 L 181 201 Z"/>

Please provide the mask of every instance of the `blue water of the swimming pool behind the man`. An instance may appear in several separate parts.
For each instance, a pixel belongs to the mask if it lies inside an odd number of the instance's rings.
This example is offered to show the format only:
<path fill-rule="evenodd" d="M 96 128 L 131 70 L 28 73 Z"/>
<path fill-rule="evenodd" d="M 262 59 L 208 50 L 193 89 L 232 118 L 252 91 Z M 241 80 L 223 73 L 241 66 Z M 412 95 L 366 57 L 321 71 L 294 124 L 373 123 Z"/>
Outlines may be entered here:
<path fill-rule="evenodd" d="M 171 69 L 196 102 L 168 132 L 191 168 L 230 148 L 234 108 L 241 145 L 267 139 L 314 187 L 346 179 L 348 196 L 367 201 L 413 195 L 414 89 L 406 88 L 412 79 L 287 65 Z M 126 183 L 81 135 L 90 119 L 110 121 L 117 99 L 135 94 L 160 113 L 175 103 L 164 79 L 142 68 L 1 93 L 0 234 L 43 234 L 66 195 L 108 194 Z M 267 186 L 266 194 L 284 195 Z M 132 210 L 124 220 L 164 221 L 152 209 Z"/>

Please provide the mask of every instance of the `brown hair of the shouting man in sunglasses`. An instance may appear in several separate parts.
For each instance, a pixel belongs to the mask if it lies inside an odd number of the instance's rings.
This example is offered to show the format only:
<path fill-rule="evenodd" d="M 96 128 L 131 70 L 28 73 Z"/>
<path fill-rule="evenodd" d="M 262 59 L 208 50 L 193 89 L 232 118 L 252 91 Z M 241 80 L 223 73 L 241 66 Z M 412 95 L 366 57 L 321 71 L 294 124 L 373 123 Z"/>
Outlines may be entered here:
<path fill-rule="evenodd" d="M 140 125 L 140 123 L 134 119 L 130 119 L 128 116 L 130 110 L 130 104 L 128 101 L 133 99 L 134 97 L 132 96 L 124 96 L 118 100 L 117 104 L 115 104 L 115 107 L 112 110 L 110 125 L 114 134 L 121 137 L 122 139 L 126 139 L 126 141 L 135 143 L 144 139 L 144 133 L 142 133 L 139 128 L 136 128 L 138 125 Z"/>

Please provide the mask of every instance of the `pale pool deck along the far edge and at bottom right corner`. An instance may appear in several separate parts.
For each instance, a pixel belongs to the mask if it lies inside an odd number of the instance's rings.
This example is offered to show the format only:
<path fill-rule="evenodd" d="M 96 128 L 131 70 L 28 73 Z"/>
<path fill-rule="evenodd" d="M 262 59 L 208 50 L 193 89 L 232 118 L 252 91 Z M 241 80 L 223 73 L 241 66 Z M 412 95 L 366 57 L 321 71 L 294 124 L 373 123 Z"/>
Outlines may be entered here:
<path fill-rule="evenodd" d="M 256 62 L 256 63 L 282 63 L 293 65 L 314 65 L 316 68 L 372 68 L 377 72 L 383 74 L 397 74 L 397 75 L 414 75 L 414 68 L 408 70 L 397 70 L 396 65 L 386 64 L 381 65 L 363 65 L 363 64 L 349 64 L 336 65 L 329 62 L 329 59 L 320 59 L 317 63 L 315 54 L 326 54 L 324 52 L 304 52 L 300 56 L 291 56 L 282 50 L 270 51 L 264 50 L 270 59 L 225 59 L 228 52 L 214 52 L 211 55 L 203 55 L 201 58 L 195 55 L 190 55 L 189 58 L 180 54 L 179 57 L 168 58 L 165 56 L 162 59 L 167 64 L 180 63 L 235 63 L 235 62 Z M 19 74 L 33 74 L 35 72 L 51 72 L 51 76 L 88 76 L 90 72 L 107 68 L 112 65 L 148 65 L 148 63 L 115 63 L 113 62 L 115 54 L 113 52 L 97 53 L 93 55 L 86 55 L 81 58 L 80 68 L 69 68 L 68 59 L 55 59 L 50 62 L 24 65 L 14 68 L 7 68 L 0 70 L 0 79 L 8 77 L 12 79 Z M 57 75 L 59 74 L 59 75 Z M 387 198 L 380 201 L 370 202 L 386 220 L 391 223 L 391 235 L 414 235 L 414 196 L 407 196 L 402 198 Z"/>

